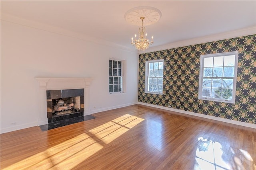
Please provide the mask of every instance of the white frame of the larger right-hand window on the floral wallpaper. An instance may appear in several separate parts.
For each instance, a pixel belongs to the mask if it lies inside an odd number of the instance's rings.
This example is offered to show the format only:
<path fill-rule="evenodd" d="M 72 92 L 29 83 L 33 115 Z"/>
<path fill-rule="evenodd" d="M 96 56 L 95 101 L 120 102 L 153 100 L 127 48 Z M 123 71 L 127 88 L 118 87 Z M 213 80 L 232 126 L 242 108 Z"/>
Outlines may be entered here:
<path fill-rule="evenodd" d="M 235 56 L 235 63 L 234 63 L 234 77 L 218 77 L 219 79 L 233 79 L 233 87 L 232 87 L 232 100 L 226 100 L 226 99 L 219 99 L 219 98 L 212 98 L 212 97 L 205 97 L 202 96 L 202 91 L 203 91 L 203 78 L 209 78 L 213 79 L 216 78 L 213 75 L 211 77 L 203 77 L 204 75 L 204 59 L 205 58 L 210 58 L 210 57 L 222 57 L 222 56 L 230 56 L 234 55 Z M 198 99 L 200 100 L 209 100 L 209 101 L 214 101 L 214 102 L 225 102 L 225 103 L 235 103 L 236 100 L 236 76 L 237 76 L 237 63 L 238 63 L 238 51 L 232 51 L 232 52 L 227 52 L 227 53 L 217 53 L 217 54 L 208 54 L 208 55 L 201 55 L 200 56 L 200 75 L 199 75 L 199 91 L 198 91 Z M 221 67 L 221 66 L 220 66 Z M 224 65 L 222 66 L 223 68 L 225 67 Z M 205 67 L 206 68 L 206 67 Z M 214 68 L 214 66 L 212 66 Z M 224 70 L 224 69 L 222 69 Z M 223 72 L 222 72 L 223 73 Z M 210 89 L 212 90 L 212 84 Z M 220 88 L 222 89 L 222 88 Z M 211 93 L 212 95 L 212 93 Z"/>

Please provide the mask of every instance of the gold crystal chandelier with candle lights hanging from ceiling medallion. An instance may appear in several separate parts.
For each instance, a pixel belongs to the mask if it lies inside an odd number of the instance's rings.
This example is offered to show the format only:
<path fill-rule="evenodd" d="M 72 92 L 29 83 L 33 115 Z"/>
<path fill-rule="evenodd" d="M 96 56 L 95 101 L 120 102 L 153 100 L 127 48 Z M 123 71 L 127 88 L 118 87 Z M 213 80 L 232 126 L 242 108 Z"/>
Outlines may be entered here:
<path fill-rule="evenodd" d="M 142 26 L 141 26 L 141 28 L 139 28 L 138 39 L 137 39 L 137 35 L 135 34 L 135 39 L 133 40 L 133 37 L 132 37 L 132 42 L 131 42 L 131 44 L 134 45 L 136 47 L 136 49 L 138 49 L 140 51 L 144 51 L 144 50 L 148 49 L 149 45 L 154 43 L 153 36 L 151 37 L 150 42 L 147 39 L 146 28 L 145 27 L 143 28 L 143 20 L 144 19 L 145 19 L 145 17 L 140 17 L 140 20 L 142 20 Z"/>

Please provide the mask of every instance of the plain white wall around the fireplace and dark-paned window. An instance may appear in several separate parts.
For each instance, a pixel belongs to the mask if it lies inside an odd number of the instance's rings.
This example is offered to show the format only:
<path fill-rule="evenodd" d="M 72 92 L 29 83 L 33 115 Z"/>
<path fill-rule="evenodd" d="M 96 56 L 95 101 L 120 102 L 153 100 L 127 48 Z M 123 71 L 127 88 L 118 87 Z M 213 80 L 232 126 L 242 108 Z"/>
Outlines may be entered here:
<path fill-rule="evenodd" d="M 108 94 L 108 59 L 126 60 L 127 90 Z M 36 76 L 93 78 L 92 113 L 138 102 L 138 54 L 1 21 L 1 133 L 38 125 Z"/>

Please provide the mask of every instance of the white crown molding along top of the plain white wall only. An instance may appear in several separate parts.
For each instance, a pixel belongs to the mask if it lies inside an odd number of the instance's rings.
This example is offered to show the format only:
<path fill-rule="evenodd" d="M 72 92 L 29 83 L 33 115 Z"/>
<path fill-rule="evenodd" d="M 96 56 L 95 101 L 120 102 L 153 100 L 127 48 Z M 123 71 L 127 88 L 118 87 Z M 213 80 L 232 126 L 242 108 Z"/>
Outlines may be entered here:
<path fill-rule="evenodd" d="M 59 34 L 59 35 L 65 35 L 65 36 L 76 38 L 76 39 L 82 39 L 84 41 L 89 41 L 91 43 L 96 43 L 96 44 L 99 44 L 99 45 L 105 45 L 105 46 L 108 46 L 108 47 L 114 47 L 114 48 L 122 49 L 122 50 L 125 50 L 125 51 L 138 53 L 138 51 L 136 51 L 133 48 L 129 48 L 129 47 L 122 46 L 122 45 L 119 45 L 119 44 L 116 44 L 116 43 L 112 43 L 110 41 L 97 39 L 97 38 L 91 37 L 89 35 L 77 33 L 77 32 L 74 32 L 74 31 L 67 30 L 67 29 L 62 29 L 60 27 L 54 27 L 54 26 L 51 26 L 51 25 L 42 24 L 42 23 L 39 23 L 39 22 L 26 20 L 26 19 L 23 19 L 23 18 L 18 18 L 16 16 L 12 16 L 12 15 L 9 15 L 9 14 L 1 13 L 1 21 L 16 23 L 18 25 L 23 25 L 23 26 L 26 26 L 26 27 L 40 29 L 40 30 L 43 30 L 43 31 L 48 31 L 48 32 L 51 32 L 51 33 Z"/>

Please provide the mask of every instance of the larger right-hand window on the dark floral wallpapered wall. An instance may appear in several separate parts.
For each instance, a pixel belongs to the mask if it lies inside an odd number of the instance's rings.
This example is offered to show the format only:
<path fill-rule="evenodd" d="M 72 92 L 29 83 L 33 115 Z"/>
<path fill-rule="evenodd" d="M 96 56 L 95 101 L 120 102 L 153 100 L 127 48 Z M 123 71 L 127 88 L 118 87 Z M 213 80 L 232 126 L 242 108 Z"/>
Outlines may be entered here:
<path fill-rule="evenodd" d="M 201 55 L 198 98 L 235 103 L 237 60 L 238 51 Z"/>

